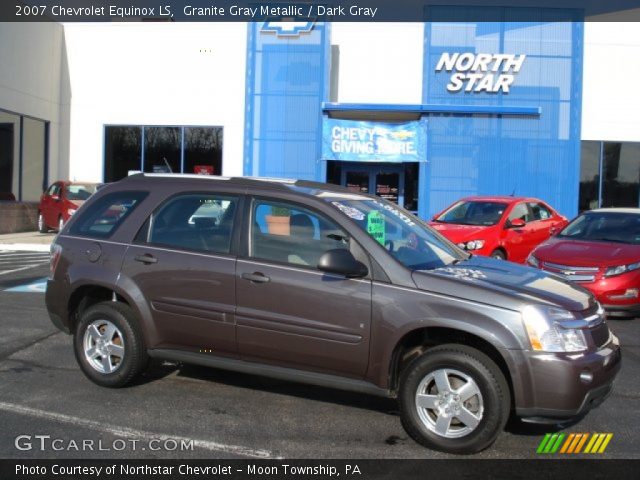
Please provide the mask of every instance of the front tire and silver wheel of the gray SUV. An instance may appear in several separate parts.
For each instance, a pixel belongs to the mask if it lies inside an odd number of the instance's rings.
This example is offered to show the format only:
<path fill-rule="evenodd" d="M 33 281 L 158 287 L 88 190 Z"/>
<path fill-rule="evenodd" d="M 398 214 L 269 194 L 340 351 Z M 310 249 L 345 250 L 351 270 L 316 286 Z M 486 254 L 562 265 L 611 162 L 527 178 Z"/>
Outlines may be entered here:
<path fill-rule="evenodd" d="M 446 453 L 477 453 L 509 418 L 509 386 L 498 366 L 465 345 L 431 348 L 402 372 L 400 415 L 418 443 Z"/>

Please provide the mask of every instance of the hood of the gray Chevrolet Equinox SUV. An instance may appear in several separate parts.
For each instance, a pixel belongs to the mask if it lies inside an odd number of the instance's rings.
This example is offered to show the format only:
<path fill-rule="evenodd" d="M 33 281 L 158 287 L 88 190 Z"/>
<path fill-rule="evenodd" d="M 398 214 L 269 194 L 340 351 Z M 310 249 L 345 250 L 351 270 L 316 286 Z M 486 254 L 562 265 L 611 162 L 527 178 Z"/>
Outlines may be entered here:
<path fill-rule="evenodd" d="M 415 271 L 413 279 L 421 290 L 512 310 L 533 302 L 577 312 L 595 304 L 587 290 L 554 274 L 487 257 L 473 256 L 449 267 Z"/>

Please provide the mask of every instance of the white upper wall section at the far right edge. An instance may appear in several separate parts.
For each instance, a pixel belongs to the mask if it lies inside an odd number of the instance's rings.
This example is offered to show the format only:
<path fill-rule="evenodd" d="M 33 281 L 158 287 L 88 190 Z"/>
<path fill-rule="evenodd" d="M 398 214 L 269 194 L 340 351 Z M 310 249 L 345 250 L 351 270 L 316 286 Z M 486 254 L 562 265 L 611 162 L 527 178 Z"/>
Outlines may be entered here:
<path fill-rule="evenodd" d="M 584 26 L 582 139 L 640 142 L 640 35 L 637 23 Z"/>

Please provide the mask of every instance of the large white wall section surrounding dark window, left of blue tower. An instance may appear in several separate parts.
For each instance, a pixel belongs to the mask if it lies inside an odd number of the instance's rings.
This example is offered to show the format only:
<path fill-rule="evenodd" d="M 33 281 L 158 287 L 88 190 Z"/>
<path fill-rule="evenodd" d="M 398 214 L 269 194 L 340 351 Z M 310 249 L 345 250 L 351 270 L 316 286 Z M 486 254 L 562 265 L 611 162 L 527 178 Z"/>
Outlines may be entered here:
<path fill-rule="evenodd" d="M 245 23 L 65 24 L 71 179 L 103 179 L 105 125 L 223 127 L 242 174 Z"/>

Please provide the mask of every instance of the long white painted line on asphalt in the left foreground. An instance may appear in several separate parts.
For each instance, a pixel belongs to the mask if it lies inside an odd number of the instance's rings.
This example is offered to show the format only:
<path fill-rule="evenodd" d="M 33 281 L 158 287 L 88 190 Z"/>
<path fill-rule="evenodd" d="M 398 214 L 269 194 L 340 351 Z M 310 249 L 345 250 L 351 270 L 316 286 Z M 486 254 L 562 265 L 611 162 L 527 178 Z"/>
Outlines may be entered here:
<path fill-rule="evenodd" d="M 276 458 L 268 450 L 256 450 L 249 447 L 240 445 L 226 445 L 224 443 L 211 442 L 208 440 L 200 440 L 196 438 L 181 437 L 174 435 L 165 435 L 154 432 L 147 432 L 144 430 L 136 430 L 128 427 L 120 427 L 117 425 L 109 425 L 106 423 L 100 423 L 93 420 L 87 420 L 85 418 L 73 417 L 71 415 L 65 415 L 63 413 L 48 412 L 46 410 L 40 410 L 38 408 L 25 407 L 22 405 L 16 405 L 14 403 L 0 402 L 0 410 L 8 413 L 15 413 L 19 415 L 28 415 L 31 417 L 41 418 L 44 420 L 52 420 L 55 422 L 66 423 L 76 427 L 84 427 L 90 430 L 95 430 L 102 433 L 109 433 L 117 437 L 134 438 L 144 440 L 174 440 L 176 442 L 192 442 L 194 447 L 202 448 L 204 450 L 210 450 L 214 452 L 225 452 L 233 455 L 240 455 L 244 457 L 253 458 Z"/>

